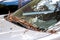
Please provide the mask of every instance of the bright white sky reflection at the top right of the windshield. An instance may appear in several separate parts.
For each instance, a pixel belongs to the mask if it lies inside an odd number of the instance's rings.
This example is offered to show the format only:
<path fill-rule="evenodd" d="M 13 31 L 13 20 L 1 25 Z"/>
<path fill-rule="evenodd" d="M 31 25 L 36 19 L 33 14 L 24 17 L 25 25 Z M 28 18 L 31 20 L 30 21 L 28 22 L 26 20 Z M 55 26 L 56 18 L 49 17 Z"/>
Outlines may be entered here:
<path fill-rule="evenodd" d="M 50 5 L 50 4 L 56 4 L 56 2 L 59 0 L 42 0 L 38 3 L 37 9 L 40 8 L 42 5 L 46 5 L 50 10 L 55 10 L 55 6 Z"/>

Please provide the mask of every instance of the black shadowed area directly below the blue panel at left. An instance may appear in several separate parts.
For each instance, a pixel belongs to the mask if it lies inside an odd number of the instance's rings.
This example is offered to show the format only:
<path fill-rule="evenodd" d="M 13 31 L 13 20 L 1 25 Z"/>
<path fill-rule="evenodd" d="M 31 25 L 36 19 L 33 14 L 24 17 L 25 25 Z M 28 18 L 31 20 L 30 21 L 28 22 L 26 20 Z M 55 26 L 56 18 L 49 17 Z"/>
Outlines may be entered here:
<path fill-rule="evenodd" d="M 17 8 L 18 8 L 17 5 L 9 5 L 9 6 L 6 6 L 6 5 L 0 4 L 0 14 L 7 14 L 9 10 L 11 12 L 14 12 L 14 11 L 17 10 Z"/>

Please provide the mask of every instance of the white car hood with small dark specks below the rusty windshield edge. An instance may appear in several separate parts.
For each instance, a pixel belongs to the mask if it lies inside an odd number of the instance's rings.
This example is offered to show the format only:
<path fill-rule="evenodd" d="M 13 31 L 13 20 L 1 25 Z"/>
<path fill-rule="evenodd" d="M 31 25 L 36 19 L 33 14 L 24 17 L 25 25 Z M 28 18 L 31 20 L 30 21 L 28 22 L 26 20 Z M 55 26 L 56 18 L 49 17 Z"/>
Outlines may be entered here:
<path fill-rule="evenodd" d="M 60 39 L 60 32 L 56 34 L 37 32 L 17 26 L 6 21 L 0 15 L 0 40 L 55 40 Z"/>

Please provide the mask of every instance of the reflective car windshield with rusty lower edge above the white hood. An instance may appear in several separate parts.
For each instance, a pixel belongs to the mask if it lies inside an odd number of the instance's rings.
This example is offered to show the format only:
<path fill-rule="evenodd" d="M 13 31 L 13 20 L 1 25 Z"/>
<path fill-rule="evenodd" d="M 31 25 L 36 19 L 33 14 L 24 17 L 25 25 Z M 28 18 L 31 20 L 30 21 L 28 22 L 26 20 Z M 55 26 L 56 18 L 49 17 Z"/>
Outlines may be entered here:
<path fill-rule="evenodd" d="M 24 19 L 28 23 L 31 23 L 34 27 L 48 29 L 53 26 L 57 20 L 54 9 L 56 4 L 41 5 L 41 0 L 33 0 L 14 12 L 14 16 Z"/>

